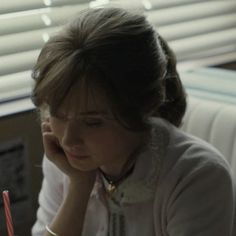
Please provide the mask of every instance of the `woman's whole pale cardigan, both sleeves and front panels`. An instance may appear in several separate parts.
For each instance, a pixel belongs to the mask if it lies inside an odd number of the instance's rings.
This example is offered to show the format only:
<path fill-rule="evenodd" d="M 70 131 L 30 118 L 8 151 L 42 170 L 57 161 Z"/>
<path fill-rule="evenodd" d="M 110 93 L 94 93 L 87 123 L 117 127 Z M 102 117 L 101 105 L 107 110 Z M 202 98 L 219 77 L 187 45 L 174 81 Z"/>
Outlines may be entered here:
<path fill-rule="evenodd" d="M 235 190 L 230 168 L 206 142 L 162 119 L 123 187 L 127 236 L 233 236 Z M 42 236 L 67 193 L 67 177 L 47 158 L 32 236 Z M 78 203 L 79 204 L 79 203 Z M 108 210 L 98 175 L 83 236 L 107 236 Z"/>

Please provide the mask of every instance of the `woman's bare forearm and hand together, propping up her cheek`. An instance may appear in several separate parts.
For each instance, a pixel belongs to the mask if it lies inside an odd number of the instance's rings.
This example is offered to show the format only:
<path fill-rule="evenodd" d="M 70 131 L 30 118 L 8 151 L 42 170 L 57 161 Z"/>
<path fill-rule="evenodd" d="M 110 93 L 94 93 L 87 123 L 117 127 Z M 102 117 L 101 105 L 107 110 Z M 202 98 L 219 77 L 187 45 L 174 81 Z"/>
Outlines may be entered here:
<path fill-rule="evenodd" d="M 47 158 L 54 162 L 70 179 L 67 195 L 50 227 L 59 235 L 82 235 L 83 222 L 94 186 L 96 170 L 80 171 L 70 165 L 63 148 L 51 129 L 49 119 L 42 122 L 42 136 Z"/>

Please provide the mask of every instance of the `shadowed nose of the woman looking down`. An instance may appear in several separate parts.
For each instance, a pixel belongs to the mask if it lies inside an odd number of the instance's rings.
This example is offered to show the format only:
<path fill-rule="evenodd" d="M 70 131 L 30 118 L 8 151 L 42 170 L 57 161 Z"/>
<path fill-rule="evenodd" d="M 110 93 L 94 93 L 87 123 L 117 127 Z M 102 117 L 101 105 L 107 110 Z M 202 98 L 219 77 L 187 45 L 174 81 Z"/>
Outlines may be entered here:
<path fill-rule="evenodd" d="M 76 149 L 84 144 L 82 130 L 78 121 L 67 121 L 64 127 L 64 134 L 62 137 L 63 147 L 69 149 Z"/>

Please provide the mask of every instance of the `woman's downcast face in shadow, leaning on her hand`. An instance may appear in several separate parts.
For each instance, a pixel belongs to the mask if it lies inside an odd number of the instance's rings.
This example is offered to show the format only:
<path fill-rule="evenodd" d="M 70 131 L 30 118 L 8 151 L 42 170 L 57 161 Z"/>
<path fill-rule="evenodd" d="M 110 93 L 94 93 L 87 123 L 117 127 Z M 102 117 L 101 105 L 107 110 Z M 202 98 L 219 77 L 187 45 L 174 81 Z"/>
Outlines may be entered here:
<path fill-rule="evenodd" d="M 100 167 L 109 175 L 119 175 L 142 135 L 121 126 L 101 94 L 88 96 L 86 106 L 77 94 L 74 87 L 57 114 L 51 114 L 52 132 L 72 167 L 82 171 Z"/>

